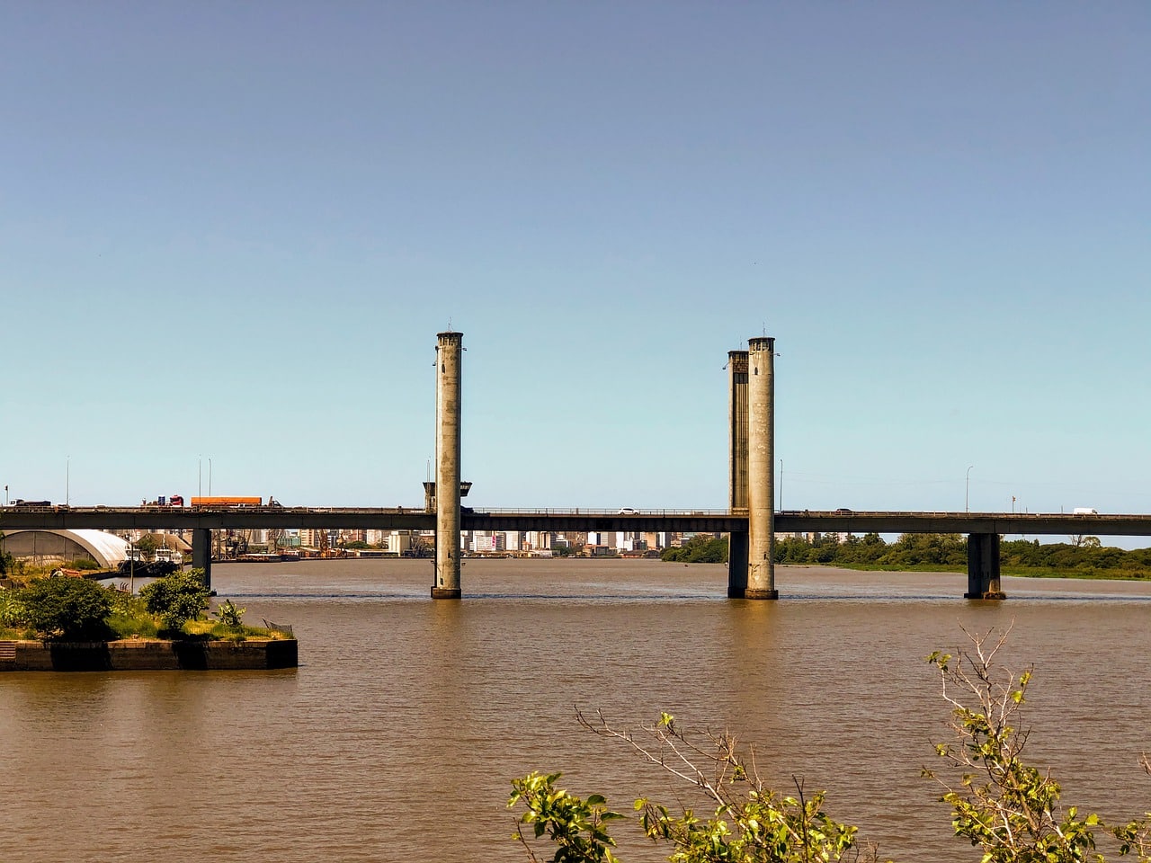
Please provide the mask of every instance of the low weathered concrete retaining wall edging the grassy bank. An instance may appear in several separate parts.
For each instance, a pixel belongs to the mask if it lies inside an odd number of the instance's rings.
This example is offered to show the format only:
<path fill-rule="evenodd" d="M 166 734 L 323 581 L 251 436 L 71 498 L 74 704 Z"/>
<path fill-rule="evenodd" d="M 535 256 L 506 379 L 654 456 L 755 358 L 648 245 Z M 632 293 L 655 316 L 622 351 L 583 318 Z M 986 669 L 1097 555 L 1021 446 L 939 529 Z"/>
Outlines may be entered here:
<path fill-rule="evenodd" d="M 295 639 L 0 641 L 0 671 L 264 671 L 297 665 Z"/>

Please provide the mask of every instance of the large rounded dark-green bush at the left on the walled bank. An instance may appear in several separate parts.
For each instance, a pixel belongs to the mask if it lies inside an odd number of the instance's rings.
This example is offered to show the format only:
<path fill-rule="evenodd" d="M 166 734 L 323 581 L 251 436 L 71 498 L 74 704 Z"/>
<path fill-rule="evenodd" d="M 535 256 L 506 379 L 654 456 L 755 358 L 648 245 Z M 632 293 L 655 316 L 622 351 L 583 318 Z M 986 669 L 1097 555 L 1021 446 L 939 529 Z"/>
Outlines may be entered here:
<path fill-rule="evenodd" d="M 108 635 L 112 611 L 107 588 L 87 579 L 37 579 L 17 599 L 24 624 L 46 639 L 101 641 Z"/>

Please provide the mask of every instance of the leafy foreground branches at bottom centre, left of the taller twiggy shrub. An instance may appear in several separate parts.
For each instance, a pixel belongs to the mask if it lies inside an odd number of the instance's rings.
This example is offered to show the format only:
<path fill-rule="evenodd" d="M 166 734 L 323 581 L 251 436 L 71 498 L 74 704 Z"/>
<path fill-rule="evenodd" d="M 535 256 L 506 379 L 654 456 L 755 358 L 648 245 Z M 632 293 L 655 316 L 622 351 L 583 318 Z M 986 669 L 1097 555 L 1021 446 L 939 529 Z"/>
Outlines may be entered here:
<path fill-rule="evenodd" d="M 645 797 L 634 803 L 648 839 L 671 846 L 671 863 L 833 863 L 861 856 L 856 828 L 823 811 L 823 792 L 807 797 L 799 781 L 794 797 L 767 788 L 756 771 L 754 750 L 740 747 L 729 732 L 687 733 L 669 713 L 626 731 L 611 727 L 602 713 L 595 720 L 578 710 L 576 716 L 584 728 L 625 742 L 700 794 L 710 810 L 702 817 L 689 807 L 677 812 Z M 551 786 L 558 776 L 532 773 L 512 780 L 509 807 L 524 801 L 527 811 L 520 823 L 534 823 L 535 838 L 548 832 L 559 846 L 552 863 L 618 860 L 610 850 L 616 842 L 602 824 L 622 816 L 608 810 L 601 795 L 580 801 L 555 792 Z M 517 827 L 517 832 L 531 858 L 538 860 L 523 830 Z M 586 840 L 580 832 L 588 834 Z M 867 848 L 862 856 L 875 860 L 875 849 Z"/>

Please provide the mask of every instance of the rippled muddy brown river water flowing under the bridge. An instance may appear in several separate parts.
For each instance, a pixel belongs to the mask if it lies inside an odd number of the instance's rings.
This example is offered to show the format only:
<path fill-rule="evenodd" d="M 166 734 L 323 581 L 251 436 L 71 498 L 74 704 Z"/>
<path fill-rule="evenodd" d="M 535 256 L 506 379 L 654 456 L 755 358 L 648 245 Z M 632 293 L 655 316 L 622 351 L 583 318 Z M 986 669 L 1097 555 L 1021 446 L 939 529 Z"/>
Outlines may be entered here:
<path fill-rule="evenodd" d="M 950 739 L 923 657 L 960 627 L 1013 626 L 1028 751 L 1065 802 L 1151 809 L 1151 583 L 1006 578 L 1009 599 L 978 603 L 966 574 L 779 567 L 780 601 L 753 603 L 724 598 L 719 565 L 467 560 L 465 599 L 433 602 L 426 560 L 213 576 L 249 623 L 294 625 L 299 669 L 0 674 L 0 861 L 518 861 L 514 776 L 563 771 L 627 812 L 674 801 L 576 705 L 730 728 L 884 857 L 977 861 L 920 777 Z M 627 863 L 666 858 L 613 832 Z"/>

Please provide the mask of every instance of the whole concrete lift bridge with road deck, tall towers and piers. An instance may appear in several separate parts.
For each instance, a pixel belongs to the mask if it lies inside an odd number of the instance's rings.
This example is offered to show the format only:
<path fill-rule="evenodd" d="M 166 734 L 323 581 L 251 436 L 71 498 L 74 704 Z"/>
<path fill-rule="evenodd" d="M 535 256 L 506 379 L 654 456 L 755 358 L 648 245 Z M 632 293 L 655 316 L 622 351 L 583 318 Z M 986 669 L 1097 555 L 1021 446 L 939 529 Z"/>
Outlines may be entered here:
<path fill-rule="evenodd" d="M 833 512 L 785 510 L 775 502 L 775 339 L 727 352 L 727 507 L 724 510 L 496 510 L 460 505 L 462 333 L 436 344 L 436 473 L 422 509 L 310 506 L 23 506 L 0 511 L 3 529 L 183 528 L 192 565 L 211 586 L 211 535 L 222 528 L 375 528 L 435 530 L 432 597 L 458 599 L 462 530 L 656 530 L 730 535 L 727 596 L 775 599 L 776 533 L 967 534 L 968 598 L 1003 598 L 999 537 L 1005 534 L 1151 536 L 1151 515 L 1095 513 Z"/>

